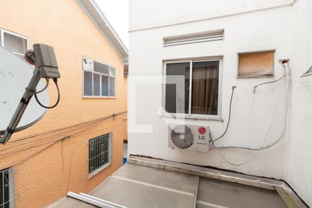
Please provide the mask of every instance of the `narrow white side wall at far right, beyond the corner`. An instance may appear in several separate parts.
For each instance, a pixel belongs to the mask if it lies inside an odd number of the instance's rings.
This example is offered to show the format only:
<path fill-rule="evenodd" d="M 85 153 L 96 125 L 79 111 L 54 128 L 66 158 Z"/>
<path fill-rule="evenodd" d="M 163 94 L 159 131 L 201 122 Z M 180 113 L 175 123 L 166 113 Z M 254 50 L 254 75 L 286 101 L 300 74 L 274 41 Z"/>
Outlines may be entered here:
<path fill-rule="evenodd" d="M 312 76 L 300 78 L 312 65 L 312 1 L 293 8 L 291 120 L 285 180 L 312 207 Z"/>

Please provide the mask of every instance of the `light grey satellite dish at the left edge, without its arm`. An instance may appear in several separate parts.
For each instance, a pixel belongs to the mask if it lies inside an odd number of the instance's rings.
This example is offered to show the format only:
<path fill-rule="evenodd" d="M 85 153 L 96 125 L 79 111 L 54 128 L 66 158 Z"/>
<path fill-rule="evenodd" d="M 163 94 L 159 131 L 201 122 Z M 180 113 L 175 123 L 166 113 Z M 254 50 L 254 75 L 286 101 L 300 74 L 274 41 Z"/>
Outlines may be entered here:
<path fill-rule="evenodd" d="M 8 128 L 12 115 L 33 76 L 33 71 L 27 62 L 0 46 L 0 135 Z M 37 91 L 43 89 L 45 85 L 44 81 L 40 80 Z M 42 104 L 49 105 L 47 89 L 37 94 L 37 97 Z M 31 99 L 15 132 L 35 124 L 44 116 L 44 112 L 46 109 L 38 105 L 35 99 Z"/>

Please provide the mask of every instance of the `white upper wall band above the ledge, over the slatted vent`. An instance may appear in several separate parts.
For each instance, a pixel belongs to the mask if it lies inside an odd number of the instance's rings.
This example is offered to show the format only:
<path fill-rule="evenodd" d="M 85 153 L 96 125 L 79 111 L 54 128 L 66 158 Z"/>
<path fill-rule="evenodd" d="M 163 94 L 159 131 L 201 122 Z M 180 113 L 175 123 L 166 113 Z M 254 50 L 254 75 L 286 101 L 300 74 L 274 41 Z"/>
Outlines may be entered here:
<path fill-rule="evenodd" d="M 130 0 L 130 31 L 286 6 L 295 0 Z"/>

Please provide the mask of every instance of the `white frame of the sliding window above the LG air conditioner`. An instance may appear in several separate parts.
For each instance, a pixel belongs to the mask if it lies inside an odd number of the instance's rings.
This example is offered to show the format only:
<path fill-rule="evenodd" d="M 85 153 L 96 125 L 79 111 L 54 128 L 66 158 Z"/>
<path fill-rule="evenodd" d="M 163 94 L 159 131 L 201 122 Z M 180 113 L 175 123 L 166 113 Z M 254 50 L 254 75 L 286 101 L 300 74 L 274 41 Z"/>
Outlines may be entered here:
<path fill-rule="evenodd" d="M 193 73 L 193 62 L 209 62 L 209 61 L 218 61 L 219 62 L 219 76 L 218 76 L 218 114 L 210 115 L 210 114 L 191 114 L 191 98 L 192 98 L 192 73 Z M 189 85 L 189 113 L 169 113 L 166 112 L 166 64 L 173 63 L 190 63 L 190 85 Z M 222 121 L 222 74 L 223 74 L 223 57 L 209 57 L 209 58 L 190 58 L 190 59 L 180 59 L 180 60 L 164 60 L 163 61 L 163 89 L 162 89 L 162 106 L 164 111 L 162 112 L 162 116 L 164 117 L 173 117 L 180 119 L 198 119 L 198 120 L 216 120 Z M 187 86 L 185 86 L 187 87 Z"/>

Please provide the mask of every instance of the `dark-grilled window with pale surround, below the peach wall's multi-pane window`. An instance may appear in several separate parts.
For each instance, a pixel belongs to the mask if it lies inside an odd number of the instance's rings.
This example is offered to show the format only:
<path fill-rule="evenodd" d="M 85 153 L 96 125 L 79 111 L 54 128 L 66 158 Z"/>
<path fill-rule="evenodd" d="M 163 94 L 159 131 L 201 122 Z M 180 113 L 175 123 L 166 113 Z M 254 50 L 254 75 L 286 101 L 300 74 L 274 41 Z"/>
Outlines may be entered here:
<path fill-rule="evenodd" d="M 112 164 L 112 134 L 90 139 L 89 178 L 103 171 L 110 164 Z"/>

